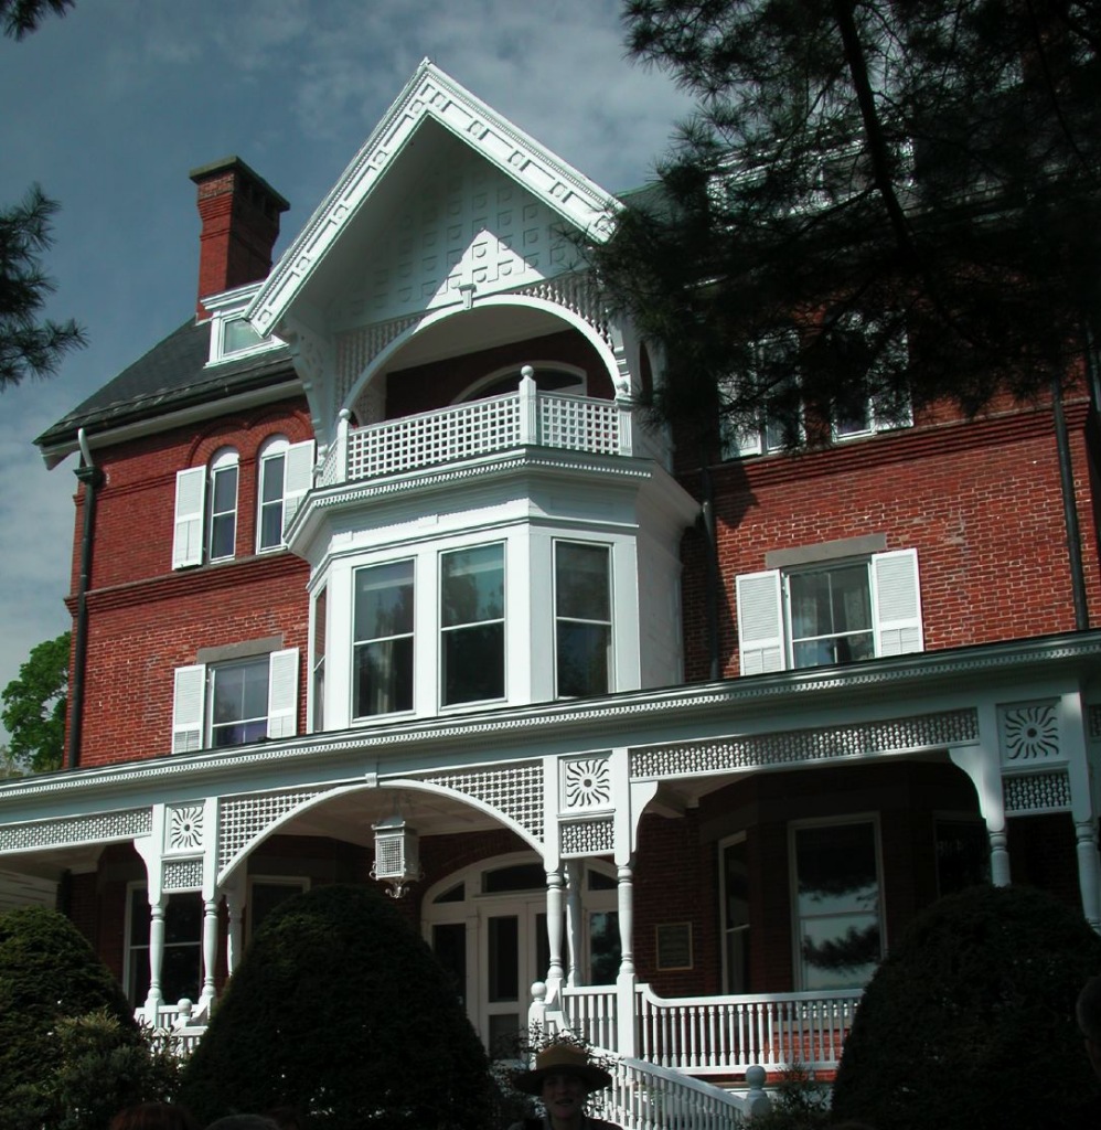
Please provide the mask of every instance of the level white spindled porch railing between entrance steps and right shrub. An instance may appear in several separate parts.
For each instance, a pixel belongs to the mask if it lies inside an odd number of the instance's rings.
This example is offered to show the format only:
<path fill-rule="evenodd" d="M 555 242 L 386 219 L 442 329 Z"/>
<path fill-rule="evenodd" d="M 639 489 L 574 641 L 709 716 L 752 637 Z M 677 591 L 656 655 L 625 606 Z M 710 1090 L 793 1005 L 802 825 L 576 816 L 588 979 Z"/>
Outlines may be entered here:
<path fill-rule="evenodd" d="M 783 1070 L 837 1067 L 860 999 L 859 989 L 665 1000 L 635 988 L 636 1053 L 692 1075 L 737 1076 L 753 1064 Z M 619 1049 L 615 988 L 562 989 L 556 1011 L 563 1027 L 595 1048 Z"/>

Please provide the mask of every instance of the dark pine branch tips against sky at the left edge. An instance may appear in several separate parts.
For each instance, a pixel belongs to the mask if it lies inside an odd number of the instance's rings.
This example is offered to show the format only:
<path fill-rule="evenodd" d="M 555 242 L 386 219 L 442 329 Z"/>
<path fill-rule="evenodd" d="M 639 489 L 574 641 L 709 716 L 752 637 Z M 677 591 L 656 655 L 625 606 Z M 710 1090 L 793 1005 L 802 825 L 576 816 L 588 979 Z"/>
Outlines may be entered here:
<path fill-rule="evenodd" d="M 9 38 L 21 40 L 47 12 L 64 16 L 73 2 L 0 0 L 0 26 Z M 84 330 L 71 319 L 42 318 L 55 284 L 43 273 L 40 257 L 50 249 L 58 207 L 33 184 L 19 203 L 0 208 L 0 391 L 26 376 L 49 376 L 70 349 L 85 345 Z"/>

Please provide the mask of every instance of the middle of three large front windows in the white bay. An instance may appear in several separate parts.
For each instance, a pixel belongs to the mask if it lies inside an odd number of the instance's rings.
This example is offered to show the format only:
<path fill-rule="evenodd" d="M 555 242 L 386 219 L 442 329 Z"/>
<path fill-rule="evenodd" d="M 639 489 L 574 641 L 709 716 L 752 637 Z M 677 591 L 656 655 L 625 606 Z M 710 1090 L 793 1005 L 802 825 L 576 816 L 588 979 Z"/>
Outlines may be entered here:
<path fill-rule="evenodd" d="M 505 546 L 440 555 L 440 688 L 445 706 L 505 697 Z"/>

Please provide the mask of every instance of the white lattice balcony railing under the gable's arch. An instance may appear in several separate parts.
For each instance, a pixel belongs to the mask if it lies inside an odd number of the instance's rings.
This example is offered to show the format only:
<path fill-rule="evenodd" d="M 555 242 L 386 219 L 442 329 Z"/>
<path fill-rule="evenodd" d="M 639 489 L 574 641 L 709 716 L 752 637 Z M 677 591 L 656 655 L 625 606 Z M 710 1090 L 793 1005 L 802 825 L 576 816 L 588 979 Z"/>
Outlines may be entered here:
<path fill-rule="evenodd" d="M 596 455 L 640 455 L 669 466 L 653 433 L 635 427 L 629 405 L 540 392 L 531 377 L 516 392 L 353 428 L 340 414 L 317 486 L 403 475 L 534 445 Z"/>

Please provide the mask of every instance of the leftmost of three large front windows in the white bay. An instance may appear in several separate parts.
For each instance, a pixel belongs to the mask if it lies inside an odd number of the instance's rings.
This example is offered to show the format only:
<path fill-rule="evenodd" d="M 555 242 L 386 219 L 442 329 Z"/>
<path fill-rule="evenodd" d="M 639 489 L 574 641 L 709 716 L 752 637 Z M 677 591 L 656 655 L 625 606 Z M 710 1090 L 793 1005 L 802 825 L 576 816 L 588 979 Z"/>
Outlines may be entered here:
<path fill-rule="evenodd" d="M 413 562 L 356 570 L 352 716 L 413 709 Z"/>

